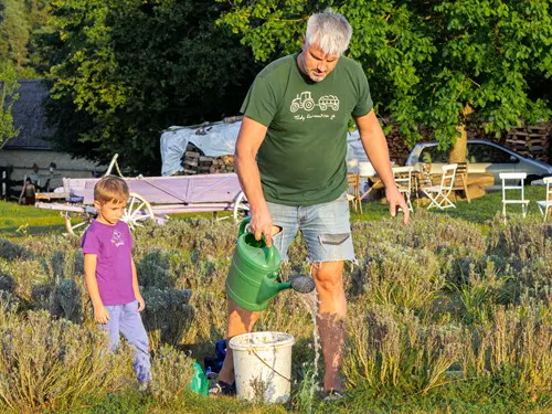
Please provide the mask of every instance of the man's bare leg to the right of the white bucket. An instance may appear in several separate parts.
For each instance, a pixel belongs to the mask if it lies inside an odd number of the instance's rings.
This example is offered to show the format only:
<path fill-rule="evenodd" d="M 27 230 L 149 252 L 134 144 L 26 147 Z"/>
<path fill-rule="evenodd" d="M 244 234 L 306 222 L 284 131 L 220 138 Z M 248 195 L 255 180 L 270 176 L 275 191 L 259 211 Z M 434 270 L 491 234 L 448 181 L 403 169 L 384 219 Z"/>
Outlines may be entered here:
<path fill-rule="evenodd" d="M 312 264 L 318 291 L 318 332 L 325 362 L 323 391 L 343 390 L 341 355 L 346 336 L 347 300 L 343 290 L 343 262 Z"/>

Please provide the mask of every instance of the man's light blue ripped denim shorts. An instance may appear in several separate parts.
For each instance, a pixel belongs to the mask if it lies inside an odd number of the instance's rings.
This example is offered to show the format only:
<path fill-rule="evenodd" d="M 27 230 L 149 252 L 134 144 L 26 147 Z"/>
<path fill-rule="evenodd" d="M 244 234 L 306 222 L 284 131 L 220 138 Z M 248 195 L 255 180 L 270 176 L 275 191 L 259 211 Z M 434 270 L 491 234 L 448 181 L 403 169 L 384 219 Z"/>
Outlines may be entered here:
<path fill-rule="evenodd" d="M 273 236 L 283 261 L 300 231 L 309 252 L 309 262 L 355 261 L 349 223 L 347 193 L 337 200 L 315 205 L 283 205 L 268 202 L 274 225 L 282 232 Z"/>

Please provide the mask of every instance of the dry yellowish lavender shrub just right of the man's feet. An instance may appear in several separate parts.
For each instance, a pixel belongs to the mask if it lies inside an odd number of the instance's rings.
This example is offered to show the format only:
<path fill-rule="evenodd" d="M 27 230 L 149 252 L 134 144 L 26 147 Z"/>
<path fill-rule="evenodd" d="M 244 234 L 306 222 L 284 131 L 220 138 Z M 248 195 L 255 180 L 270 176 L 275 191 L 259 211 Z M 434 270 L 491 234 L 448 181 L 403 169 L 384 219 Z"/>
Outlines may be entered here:
<path fill-rule="evenodd" d="M 466 331 L 456 326 L 422 326 L 391 306 L 359 307 L 350 318 L 343 371 L 353 386 L 399 388 L 425 393 L 445 382 L 458 360 Z"/>

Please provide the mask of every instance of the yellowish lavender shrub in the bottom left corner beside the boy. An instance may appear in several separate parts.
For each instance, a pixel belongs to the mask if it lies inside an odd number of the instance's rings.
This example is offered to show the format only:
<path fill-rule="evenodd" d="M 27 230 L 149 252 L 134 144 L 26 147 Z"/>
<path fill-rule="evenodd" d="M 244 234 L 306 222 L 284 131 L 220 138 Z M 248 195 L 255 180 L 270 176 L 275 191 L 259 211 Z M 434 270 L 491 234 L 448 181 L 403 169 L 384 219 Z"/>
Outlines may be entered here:
<path fill-rule="evenodd" d="M 131 352 L 105 352 L 107 338 L 46 311 L 0 307 L 0 404 L 15 412 L 76 404 L 88 394 L 121 389 Z"/>

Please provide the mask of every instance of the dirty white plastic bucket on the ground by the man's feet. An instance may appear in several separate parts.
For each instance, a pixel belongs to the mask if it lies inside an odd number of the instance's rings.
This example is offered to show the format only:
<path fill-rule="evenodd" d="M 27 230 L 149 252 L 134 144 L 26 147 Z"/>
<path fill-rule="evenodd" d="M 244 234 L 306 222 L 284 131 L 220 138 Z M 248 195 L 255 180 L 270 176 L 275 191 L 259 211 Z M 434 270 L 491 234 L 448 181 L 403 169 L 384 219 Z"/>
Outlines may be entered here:
<path fill-rule="evenodd" d="M 252 332 L 234 337 L 230 348 L 234 354 L 237 396 L 286 403 L 291 392 L 291 347 L 295 338 L 285 332 Z"/>

